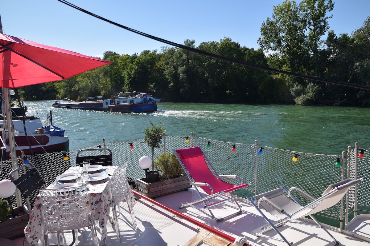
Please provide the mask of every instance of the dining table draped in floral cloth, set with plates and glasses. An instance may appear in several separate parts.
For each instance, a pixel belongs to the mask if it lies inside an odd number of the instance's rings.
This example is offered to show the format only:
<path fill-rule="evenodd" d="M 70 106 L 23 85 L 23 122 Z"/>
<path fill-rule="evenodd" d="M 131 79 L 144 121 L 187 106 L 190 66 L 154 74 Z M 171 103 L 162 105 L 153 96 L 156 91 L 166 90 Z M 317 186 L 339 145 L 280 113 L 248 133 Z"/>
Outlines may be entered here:
<path fill-rule="evenodd" d="M 101 240 L 104 242 L 104 245 L 106 245 L 107 242 L 106 224 L 107 222 L 109 222 L 110 214 L 110 202 L 111 202 L 110 178 L 112 177 L 114 171 L 117 168 L 118 166 L 104 166 L 102 167 L 101 170 L 98 170 L 95 176 L 99 177 L 98 174 L 100 174 L 102 178 L 106 177 L 102 180 L 95 181 L 94 179 L 93 181 L 89 181 L 89 179 L 86 177 L 83 179 L 83 185 L 87 186 L 88 193 L 90 195 L 89 199 L 92 210 L 92 216 L 94 216 L 94 220 L 99 221 L 99 226 L 101 228 Z M 63 177 L 67 177 L 72 174 L 73 174 L 72 167 L 70 167 L 62 175 L 57 176 L 57 178 L 59 178 L 60 180 L 55 179 L 55 181 L 46 188 L 47 189 L 62 188 L 63 186 L 65 186 L 65 184 L 68 184 L 67 182 L 66 183 L 63 182 L 65 181 Z M 128 195 L 127 197 L 129 197 L 129 200 L 132 203 L 132 206 L 134 206 L 137 200 L 130 186 L 127 195 Z M 35 246 L 38 240 L 42 239 L 43 235 L 41 231 L 41 225 L 42 225 L 41 200 L 40 196 L 38 195 L 36 197 L 33 209 L 32 211 L 30 211 L 30 219 L 28 221 L 28 224 L 24 228 L 24 235 L 26 236 L 26 239 L 31 246 Z"/>

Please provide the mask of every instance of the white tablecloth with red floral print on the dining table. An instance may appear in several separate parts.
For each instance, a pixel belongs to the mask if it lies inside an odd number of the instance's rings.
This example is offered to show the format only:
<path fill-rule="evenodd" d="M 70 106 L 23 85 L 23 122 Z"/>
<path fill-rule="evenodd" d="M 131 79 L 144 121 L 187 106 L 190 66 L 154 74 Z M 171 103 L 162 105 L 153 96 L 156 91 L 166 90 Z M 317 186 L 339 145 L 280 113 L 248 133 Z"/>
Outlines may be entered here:
<path fill-rule="evenodd" d="M 108 173 L 109 177 L 112 177 L 114 170 L 118 166 L 107 166 L 104 173 Z M 72 173 L 72 169 L 68 169 L 64 173 Z M 108 216 L 110 213 L 110 180 L 101 183 L 101 184 L 87 184 L 88 193 L 90 194 L 91 209 L 93 211 L 93 216 L 95 220 L 99 220 L 99 226 L 102 231 L 101 239 L 106 244 L 107 240 L 107 228 L 105 224 L 107 223 Z M 48 189 L 58 188 L 57 181 L 55 180 Z M 129 197 L 132 202 L 132 206 L 135 205 L 136 198 L 134 193 L 129 192 Z M 38 240 L 41 239 L 41 204 L 40 197 L 36 198 L 34 207 L 30 212 L 30 220 L 28 221 L 27 226 L 24 228 L 24 235 L 26 236 L 27 241 L 31 246 L 36 245 Z"/>

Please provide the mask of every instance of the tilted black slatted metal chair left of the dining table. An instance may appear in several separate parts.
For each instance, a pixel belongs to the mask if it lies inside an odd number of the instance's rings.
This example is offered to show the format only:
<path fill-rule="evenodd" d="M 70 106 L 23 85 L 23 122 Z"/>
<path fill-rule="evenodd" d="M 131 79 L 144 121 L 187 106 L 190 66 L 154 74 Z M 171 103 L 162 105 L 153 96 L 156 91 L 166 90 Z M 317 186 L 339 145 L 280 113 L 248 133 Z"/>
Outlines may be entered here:
<path fill-rule="evenodd" d="M 21 169 L 24 169 L 24 172 L 20 172 Z M 23 174 L 19 175 L 19 177 L 15 179 L 13 176 L 16 172 Z M 9 179 L 16 185 L 18 190 L 21 192 L 24 200 L 26 200 L 27 202 L 28 211 L 31 212 L 33 206 L 31 206 L 30 203 L 29 199 L 30 195 L 35 191 L 39 191 L 40 189 L 46 188 L 45 181 L 41 177 L 40 173 L 38 173 L 36 168 L 34 168 L 33 166 L 29 164 L 23 164 L 22 166 L 19 166 L 18 168 L 14 169 L 9 173 Z"/>

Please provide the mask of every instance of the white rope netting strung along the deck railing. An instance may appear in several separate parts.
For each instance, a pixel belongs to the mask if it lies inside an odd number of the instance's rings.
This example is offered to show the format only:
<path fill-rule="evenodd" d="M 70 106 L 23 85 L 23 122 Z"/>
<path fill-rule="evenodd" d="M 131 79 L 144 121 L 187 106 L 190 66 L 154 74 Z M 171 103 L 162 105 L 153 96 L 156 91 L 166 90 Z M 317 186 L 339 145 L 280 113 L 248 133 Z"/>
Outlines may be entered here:
<path fill-rule="evenodd" d="M 186 137 L 189 138 L 189 142 L 186 142 Z M 209 147 L 207 147 L 208 141 Z M 114 165 L 121 166 L 126 161 L 128 162 L 127 177 L 135 180 L 145 176 L 145 172 L 138 165 L 138 160 L 141 156 L 152 158 L 152 150 L 144 143 L 144 140 L 132 141 L 133 149 L 130 148 L 130 142 L 108 142 L 105 145 L 104 143 L 100 145 L 102 148 L 112 150 Z M 268 146 L 259 146 L 257 142 L 255 144 L 222 142 L 193 136 L 192 134 L 185 136 L 165 135 L 161 146 L 154 149 L 154 160 L 157 160 L 157 157 L 164 151 L 172 152 L 172 149 L 189 148 L 198 145 L 205 152 L 205 155 L 219 174 L 238 175 L 243 183 L 252 183 L 245 190 L 238 191 L 242 197 L 254 195 L 255 192 L 257 194 L 263 193 L 283 185 L 287 188 L 299 187 L 313 197 L 318 198 L 330 184 L 342 180 L 342 171 L 346 173 L 344 167 L 335 165 L 338 156 L 293 152 Z M 233 145 L 235 145 L 235 152 L 231 150 Z M 263 150 L 259 155 L 257 151 L 260 147 L 263 147 Z M 98 148 L 98 146 L 85 146 L 81 149 L 94 148 Z M 56 176 L 67 170 L 71 163 L 75 163 L 77 152 L 81 149 L 27 157 L 30 164 L 38 169 L 48 185 L 55 180 Z M 370 153 L 370 150 L 365 153 Z M 296 154 L 297 161 L 293 162 L 292 158 Z M 69 157 L 68 160 L 64 160 L 65 155 Z M 90 152 L 89 155 L 91 155 Z M 367 155 L 365 154 L 365 156 Z M 366 173 L 370 172 L 369 162 L 369 157 L 364 157 L 358 161 L 357 177 L 366 176 Z M 18 157 L 18 163 L 19 165 L 23 163 L 21 157 Z M 8 175 L 11 170 L 12 167 L 9 160 L 1 162 L 0 180 L 9 179 Z M 350 165 L 350 170 L 347 174 L 348 178 L 354 179 L 353 173 L 354 167 Z M 344 175 L 343 179 L 346 178 L 346 175 Z M 368 187 L 369 185 L 366 182 L 359 184 L 357 204 L 369 206 L 370 194 Z M 298 200 L 302 201 L 302 205 L 308 203 L 306 198 L 300 197 L 299 194 L 294 195 Z M 349 197 L 350 206 L 353 207 L 354 199 L 351 198 L 353 194 Z M 16 204 L 15 198 L 13 200 L 13 204 Z M 34 201 L 31 199 L 31 204 L 33 203 Z M 323 211 L 323 214 L 332 218 L 339 218 L 340 203 L 326 209 Z"/>

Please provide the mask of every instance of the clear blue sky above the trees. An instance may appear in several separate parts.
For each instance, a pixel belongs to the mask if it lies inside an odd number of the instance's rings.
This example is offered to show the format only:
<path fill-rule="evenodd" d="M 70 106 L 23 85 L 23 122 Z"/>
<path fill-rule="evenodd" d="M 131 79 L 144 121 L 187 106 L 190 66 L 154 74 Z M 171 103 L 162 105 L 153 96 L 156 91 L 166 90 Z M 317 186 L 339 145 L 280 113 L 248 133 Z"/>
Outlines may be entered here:
<path fill-rule="evenodd" d="M 260 27 L 283 0 L 69 0 L 108 20 L 183 44 L 195 45 L 229 37 L 258 49 Z M 299 0 L 297 1 L 299 2 Z M 369 0 L 334 1 L 331 30 L 351 34 L 370 15 Z M 3 0 L 0 4 L 4 34 L 57 46 L 89 56 L 105 51 L 120 55 L 161 50 L 158 41 L 134 34 L 75 10 L 57 0 Z"/>

